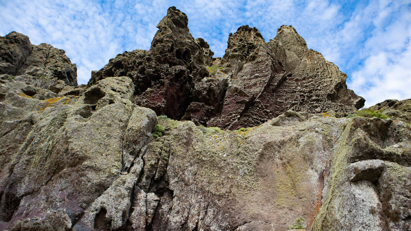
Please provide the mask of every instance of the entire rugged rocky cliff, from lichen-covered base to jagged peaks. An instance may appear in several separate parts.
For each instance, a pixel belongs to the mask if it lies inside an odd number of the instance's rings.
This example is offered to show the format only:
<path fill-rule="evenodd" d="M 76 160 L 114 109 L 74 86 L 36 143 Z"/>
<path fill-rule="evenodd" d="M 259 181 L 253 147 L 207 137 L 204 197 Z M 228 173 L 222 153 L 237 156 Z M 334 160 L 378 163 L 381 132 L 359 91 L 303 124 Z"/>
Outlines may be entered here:
<path fill-rule="evenodd" d="M 242 26 L 220 59 L 187 23 L 170 7 L 81 86 L 50 74 L 61 50 L 2 37 L 0 229 L 411 229 L 410 99 L 352 117 L 364 99 L 293 27 Z"/>

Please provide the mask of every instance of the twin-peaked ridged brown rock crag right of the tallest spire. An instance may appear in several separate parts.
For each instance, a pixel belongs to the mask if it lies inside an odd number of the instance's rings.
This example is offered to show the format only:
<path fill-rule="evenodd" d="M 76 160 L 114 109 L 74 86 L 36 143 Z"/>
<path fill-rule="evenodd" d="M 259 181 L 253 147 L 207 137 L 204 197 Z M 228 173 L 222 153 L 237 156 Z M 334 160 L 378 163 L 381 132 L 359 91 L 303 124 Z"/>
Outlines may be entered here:
<path fill-rule="evenodd" d="M 364 106 L 345 84 L 346 74 L 307 49 L 292 26 L 282 26 L 265 42 L 256 28 L 242 26 L 229 36 L 222 72 L 229 85 L 221 113 L 209 126 L 229 129 L 256 126 L 285 111 L 336 113 Z"/>

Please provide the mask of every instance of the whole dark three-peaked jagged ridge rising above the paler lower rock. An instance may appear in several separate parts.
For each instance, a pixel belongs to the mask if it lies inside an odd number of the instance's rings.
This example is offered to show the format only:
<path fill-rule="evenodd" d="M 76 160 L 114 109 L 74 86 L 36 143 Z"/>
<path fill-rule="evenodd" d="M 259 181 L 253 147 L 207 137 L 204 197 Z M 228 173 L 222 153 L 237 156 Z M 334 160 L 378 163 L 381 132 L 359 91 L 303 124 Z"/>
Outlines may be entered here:
<path fill-rule="evenodd" d="M 175 7 L 159 22 L 149 51 L 117 55 L 92 72 L 88 85 L 128 76 L 134 103 L 176 120 L 237 129 L 261 125 L 291 109 L 309 113 L 355 111 L 365 100 L 348 90 L 346 74 L 307 48 L 292 26 L 265 42 L 256 28 L 229 35 L 224 57 L 194 39 L 187 16 Z"/>

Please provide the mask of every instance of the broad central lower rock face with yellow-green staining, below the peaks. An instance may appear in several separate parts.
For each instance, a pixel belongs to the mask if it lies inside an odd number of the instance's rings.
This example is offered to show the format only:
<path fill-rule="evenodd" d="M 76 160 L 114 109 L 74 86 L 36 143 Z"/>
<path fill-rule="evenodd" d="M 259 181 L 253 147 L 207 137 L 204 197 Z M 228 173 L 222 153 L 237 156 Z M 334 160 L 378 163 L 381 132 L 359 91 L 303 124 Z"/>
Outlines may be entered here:
<path fill-rule="evenodd" d="M 291 114 L 304 119 L 289 124 Z M 310 226 L 321 206 L 336 125 L 345 119 L 325 113 L 289 116 L 243 132 L 170 121 L 165 141 L 145 154 L 150 167 L 141 188 L 159 197 L 149 230 L 285 230 L 300 215 Z M 165 175 L 156 180 L 164 148 L 172 154 Z M 144 183 L 147 178 L 150 183 Z"/>

